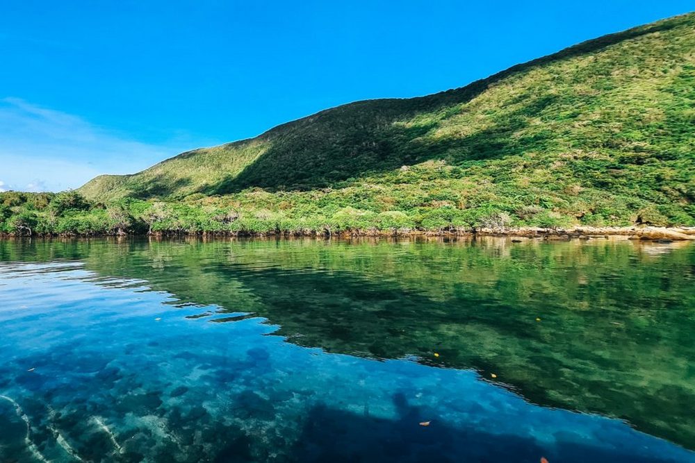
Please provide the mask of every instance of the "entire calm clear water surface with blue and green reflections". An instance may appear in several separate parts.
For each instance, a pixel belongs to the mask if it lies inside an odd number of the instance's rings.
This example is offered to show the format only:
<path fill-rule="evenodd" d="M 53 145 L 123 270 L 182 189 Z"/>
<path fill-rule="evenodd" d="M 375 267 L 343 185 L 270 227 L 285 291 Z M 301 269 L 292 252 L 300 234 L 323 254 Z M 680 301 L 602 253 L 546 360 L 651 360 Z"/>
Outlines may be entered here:
<path fill-rule="evenodd" d="M 695 462 L 694 283 L 681 243 L 0 241 L 0 461 Z"/>

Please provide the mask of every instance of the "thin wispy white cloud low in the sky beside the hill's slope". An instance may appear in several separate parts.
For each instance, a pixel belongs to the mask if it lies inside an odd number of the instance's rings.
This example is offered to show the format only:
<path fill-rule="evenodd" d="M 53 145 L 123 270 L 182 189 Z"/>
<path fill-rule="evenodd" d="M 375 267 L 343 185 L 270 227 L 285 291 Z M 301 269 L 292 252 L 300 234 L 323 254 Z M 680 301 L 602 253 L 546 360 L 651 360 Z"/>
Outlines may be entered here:
<path fill-rule="evenodd" d="M 129 174 L 189 146 L 132 140 L 81 117 L 0 99 L 0 190 L 58 191 L 99 174 Z"/>

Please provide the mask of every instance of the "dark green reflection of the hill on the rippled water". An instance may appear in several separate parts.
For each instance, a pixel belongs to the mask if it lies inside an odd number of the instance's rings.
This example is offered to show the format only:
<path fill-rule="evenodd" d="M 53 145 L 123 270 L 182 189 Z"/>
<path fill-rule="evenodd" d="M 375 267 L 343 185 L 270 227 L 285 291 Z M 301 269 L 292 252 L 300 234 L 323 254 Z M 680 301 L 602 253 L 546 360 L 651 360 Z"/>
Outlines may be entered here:
<path fill-rule="evenodd" d="M 618 416 L 691 448 L 695 441 L 683 406 L 695 400 L 692 245 L 490 238 L 28 246 L 39 260 L 84 259 L 101 275 L 142 278 L 184 303 L 255 312 L 295 344 L 496 373 L 534 402 Z M 8 246 L 0 249 L 8 258 Z"/>

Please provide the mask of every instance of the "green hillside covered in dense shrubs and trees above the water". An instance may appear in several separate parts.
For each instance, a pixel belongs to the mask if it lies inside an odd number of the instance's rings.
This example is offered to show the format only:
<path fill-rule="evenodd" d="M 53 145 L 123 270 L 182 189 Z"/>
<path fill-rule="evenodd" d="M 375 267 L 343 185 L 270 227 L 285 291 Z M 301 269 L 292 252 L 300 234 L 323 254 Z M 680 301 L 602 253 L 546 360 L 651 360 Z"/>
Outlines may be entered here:
<path fill-rule="evenodd" d="M 694 49 L 695 14 L 666 19 L 457 90 L 351 103 L 138 174 L 100 176 L 79 190 L 88 208 L 44 212 L 43 199 L 28 198 L 6 205 L 1 227 L 695 225 Z"/>

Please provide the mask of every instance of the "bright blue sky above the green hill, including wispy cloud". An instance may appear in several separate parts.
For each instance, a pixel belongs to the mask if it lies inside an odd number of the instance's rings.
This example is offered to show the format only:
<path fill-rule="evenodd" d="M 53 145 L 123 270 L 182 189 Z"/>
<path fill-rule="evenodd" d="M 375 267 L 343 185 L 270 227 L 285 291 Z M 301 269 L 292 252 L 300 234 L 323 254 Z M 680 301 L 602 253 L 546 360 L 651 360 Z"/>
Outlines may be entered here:
<path fill-rule="evenodd" d="M 360 99 L 461 87 L 691 1 L 5 1 L 0 190 L 63 190 Z"/>

